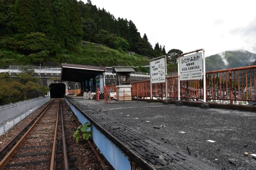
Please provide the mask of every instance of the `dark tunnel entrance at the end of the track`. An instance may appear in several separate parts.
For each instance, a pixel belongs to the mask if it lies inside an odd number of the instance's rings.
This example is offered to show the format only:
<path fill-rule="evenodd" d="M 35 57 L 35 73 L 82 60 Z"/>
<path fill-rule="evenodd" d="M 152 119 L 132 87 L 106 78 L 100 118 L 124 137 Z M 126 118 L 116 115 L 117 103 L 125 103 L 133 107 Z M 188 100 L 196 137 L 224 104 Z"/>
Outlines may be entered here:
<path fill-rule="evenodd" d="M 51 98 L 63 98 L 66 92 L 66 85 L 64 83 L 52 83 L 50 84 L 50 97 Z"/>

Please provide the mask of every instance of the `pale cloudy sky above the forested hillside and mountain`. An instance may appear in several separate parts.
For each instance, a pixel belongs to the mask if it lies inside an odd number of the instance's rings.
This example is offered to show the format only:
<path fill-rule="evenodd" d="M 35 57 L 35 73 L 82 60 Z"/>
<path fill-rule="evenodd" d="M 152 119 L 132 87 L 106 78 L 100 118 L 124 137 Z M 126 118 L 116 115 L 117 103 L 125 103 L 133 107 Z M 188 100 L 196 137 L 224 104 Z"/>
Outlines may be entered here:
<path fill-rule="evenodd" d="M 87 2 L 87 0 L 83 0 Z M 91 0 L 115 18 L 132 20 L 153 48 L 205 49 L 206 56 L 226 50 L 256 53 L 255 0 Z"/>

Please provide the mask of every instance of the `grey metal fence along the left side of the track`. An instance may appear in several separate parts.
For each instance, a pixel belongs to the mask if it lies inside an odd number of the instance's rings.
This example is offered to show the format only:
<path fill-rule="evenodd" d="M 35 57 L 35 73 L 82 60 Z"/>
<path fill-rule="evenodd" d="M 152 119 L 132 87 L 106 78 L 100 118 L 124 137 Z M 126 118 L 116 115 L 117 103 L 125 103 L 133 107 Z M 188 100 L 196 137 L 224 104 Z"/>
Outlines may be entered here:
<path fill-rule="evenodd" d="M 50 96 L 45 96 L 0 106 L 0 134 L 49 100 Z"/>

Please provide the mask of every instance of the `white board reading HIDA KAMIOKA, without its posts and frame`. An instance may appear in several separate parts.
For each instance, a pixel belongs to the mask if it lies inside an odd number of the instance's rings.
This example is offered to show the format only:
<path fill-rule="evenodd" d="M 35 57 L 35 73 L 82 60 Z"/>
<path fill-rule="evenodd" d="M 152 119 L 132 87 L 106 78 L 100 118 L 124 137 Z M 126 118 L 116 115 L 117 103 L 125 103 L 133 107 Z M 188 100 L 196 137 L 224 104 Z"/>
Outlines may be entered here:
<path fill-rule="evenodd" d="M 203 78 L 202 52 L 179 58 L 180 80 L 196 80 Z"/>

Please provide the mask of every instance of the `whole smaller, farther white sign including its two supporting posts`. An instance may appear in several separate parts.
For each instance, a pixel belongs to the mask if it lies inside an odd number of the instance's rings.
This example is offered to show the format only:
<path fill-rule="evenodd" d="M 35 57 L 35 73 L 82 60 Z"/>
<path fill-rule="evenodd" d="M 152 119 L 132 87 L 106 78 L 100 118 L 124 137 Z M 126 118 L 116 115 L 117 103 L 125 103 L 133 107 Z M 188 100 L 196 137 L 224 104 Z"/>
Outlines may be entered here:
<path fill-rule="evenodd" d="M 150 99 L 153 98 L 152 83 L 164 82 L 167 98 L 167 81 L 165 80 L 165 77 L 167 75 L 166 59 L 166 56 L 161 56 L 150 60 Z"/>

